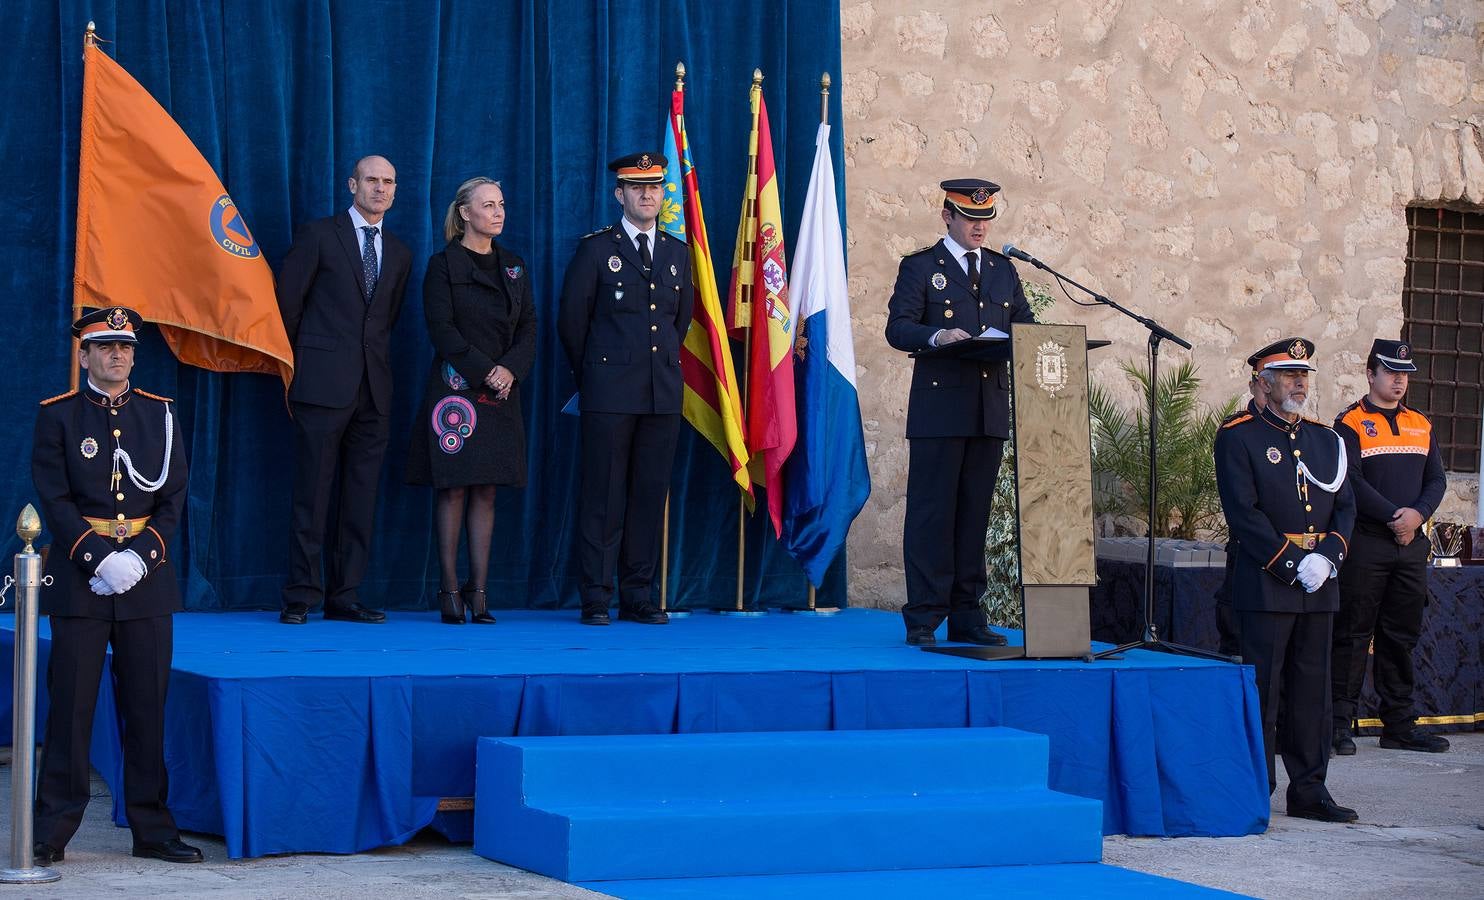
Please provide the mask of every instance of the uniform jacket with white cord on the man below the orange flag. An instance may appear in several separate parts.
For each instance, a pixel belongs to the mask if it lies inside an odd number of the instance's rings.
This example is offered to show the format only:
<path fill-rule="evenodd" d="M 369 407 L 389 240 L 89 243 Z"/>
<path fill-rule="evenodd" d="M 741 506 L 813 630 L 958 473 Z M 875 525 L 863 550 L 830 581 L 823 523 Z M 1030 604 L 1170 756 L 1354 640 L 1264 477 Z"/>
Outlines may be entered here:
<path fill-rule="evenodd" d="M 129 454 L 142 480 L 160 477 L 168 417 L 174 437 L 165 484 L 141 490 L 122 462 L 114 480 L 114 449 Z M 52 535 L 46 557 L 52 584 L 42 588 L 42 612 L 139 619 L 181 607 L 166 554 L 186 505 L 187 481 L 186 435 L 175 422 L 174 402 L 132 388 L 110 400 L 91 386 L 43 401 L 36 416 L 31 480 Z M 108 523 L 110 535 L 95 532 L 89 518 Z M 148 521 L 139 521 L 144 518 Z M 104 558 L 120 550 L 137 552 L 148 573 L 123 594 L 93 594 L 89 581 Z"/>

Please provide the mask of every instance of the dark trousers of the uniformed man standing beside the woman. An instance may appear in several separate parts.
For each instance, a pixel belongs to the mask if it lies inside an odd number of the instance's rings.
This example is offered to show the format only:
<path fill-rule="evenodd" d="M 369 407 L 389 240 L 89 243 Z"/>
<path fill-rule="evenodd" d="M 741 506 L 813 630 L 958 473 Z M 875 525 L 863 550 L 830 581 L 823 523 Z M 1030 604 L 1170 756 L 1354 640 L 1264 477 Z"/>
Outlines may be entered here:
<path fill-rule="evenodd" d="M 583 607 L 650 604 L 678 414 L 582 413 L 577 570 Z"/>

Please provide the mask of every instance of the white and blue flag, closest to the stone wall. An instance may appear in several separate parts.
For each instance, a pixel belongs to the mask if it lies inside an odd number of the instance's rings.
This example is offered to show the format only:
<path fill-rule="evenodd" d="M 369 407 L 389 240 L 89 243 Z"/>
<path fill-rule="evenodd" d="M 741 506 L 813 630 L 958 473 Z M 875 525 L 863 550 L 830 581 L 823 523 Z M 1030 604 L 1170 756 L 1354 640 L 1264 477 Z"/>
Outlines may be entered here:
<path fill-rule="evenodd" d="M 809 584 L 819 587 L 871 495 L 828 125 L 815 138 L 815 168 L 794 250 L 798 446 L 784 469 L 784 547 Z"/>

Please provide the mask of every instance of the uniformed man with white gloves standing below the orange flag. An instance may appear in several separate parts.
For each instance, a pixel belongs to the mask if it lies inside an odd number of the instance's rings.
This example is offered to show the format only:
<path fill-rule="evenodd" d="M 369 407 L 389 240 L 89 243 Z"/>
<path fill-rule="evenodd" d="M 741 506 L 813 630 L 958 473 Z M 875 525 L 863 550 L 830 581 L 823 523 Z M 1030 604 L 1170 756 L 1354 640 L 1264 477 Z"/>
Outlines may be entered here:
<path fill-rule="evenodd" d="M 36 799 L 36 861 L 59 863 L 89 798 L 88 747 L 104 656 L 123 714 L 123 809 L 134 855 L 199 863 L 166 808 L 165 691 L 171 613 L 181 607 L 166 545 L 186 505 L 186 453 L 171 401 L 129 383 L 142 319 L 120 306 L 77 319 L 82 391 L 42 401 L 31 478 L 52 550 L 52 711 Z"/>

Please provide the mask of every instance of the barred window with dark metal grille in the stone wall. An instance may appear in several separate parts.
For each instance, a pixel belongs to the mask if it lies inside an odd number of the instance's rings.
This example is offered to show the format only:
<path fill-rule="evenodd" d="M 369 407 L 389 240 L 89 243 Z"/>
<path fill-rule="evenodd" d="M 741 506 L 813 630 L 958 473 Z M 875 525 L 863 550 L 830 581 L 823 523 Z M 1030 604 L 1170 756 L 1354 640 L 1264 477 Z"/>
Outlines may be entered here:
<path fill-rule="evenodd" d="M 1484 212 L 1437 206 L 1407 209 L 1407 282 L 1402 340 L 1417 373 L 1407 404 L 1432 420 L 1442 468 L 1480 469 L 1481 365 L 1484 365 Z"/>

